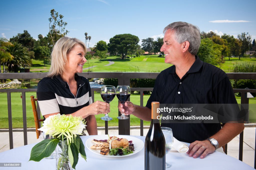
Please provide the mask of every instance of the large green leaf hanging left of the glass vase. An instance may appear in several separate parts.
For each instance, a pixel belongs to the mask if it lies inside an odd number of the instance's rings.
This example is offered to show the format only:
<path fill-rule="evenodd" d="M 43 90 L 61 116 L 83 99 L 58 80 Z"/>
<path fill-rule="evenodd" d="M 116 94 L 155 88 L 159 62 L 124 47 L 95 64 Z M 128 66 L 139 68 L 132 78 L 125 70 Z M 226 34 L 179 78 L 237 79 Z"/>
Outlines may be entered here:
<path fill-rule="evenodd" d="M 41 161 L 44 157 L 48 157 L 55 150 L 59 139 L 45 139 L 37 143 L 31 150 L 29 161 Z"/>

